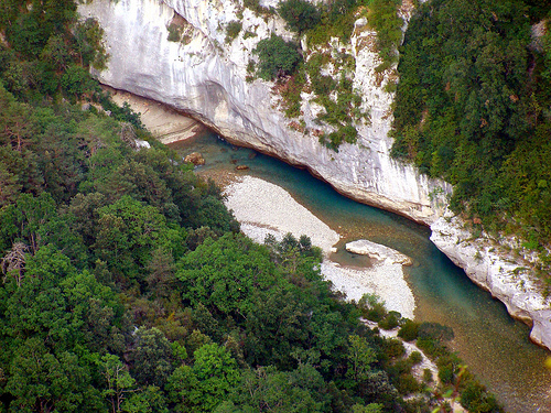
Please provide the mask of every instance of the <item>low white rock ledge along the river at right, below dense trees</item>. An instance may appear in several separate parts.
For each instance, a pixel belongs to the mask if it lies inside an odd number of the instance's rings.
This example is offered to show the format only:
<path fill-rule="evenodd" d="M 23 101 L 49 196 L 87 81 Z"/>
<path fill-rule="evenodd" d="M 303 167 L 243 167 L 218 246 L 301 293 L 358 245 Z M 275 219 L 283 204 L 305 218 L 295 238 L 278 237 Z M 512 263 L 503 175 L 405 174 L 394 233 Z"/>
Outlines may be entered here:
<path fill-rule="evenodd" d="M 473 239 L 457 218 L 442 217 L 432 226 L 431 241 L 477 285 L 501 301 L 516 318 L 532 324 L 530 338 L 551 350 L 551 306 L 541 283 L 527 273 L 519 259 L 504 253 L 497 242 Z"/>

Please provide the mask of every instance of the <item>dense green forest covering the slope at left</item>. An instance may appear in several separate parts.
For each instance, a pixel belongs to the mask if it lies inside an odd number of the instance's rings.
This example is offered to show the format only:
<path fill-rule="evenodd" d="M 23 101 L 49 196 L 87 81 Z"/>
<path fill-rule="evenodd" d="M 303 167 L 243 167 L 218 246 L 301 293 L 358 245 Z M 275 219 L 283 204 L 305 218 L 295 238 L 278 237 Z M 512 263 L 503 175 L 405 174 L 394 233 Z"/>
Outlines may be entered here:
<path fill-rule="evenodd" d="M 0 411 L 428 411 L 419 354 L 360 322 L 310 239 L 239 233 L 219 189 L 99 93 L 96 23 L 29 4 L 0 19 Z"/>

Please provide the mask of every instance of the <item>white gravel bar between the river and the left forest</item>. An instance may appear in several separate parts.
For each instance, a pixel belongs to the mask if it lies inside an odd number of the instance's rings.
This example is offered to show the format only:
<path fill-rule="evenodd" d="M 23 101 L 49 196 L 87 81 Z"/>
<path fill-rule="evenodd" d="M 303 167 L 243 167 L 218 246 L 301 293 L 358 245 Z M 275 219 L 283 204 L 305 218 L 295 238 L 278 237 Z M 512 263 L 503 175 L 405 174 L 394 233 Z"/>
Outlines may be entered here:
<path fill-rule="evenodd" d="M 226 206 L 234 210 L 235 217 L 241 222 L 242 232 L 257 242 L 263 242 L 268 233 L 278 240 L 287 232 L 296 238 L 306 235 L 328 257 L 332 247 L 339 240 L 337 232 L 278 185 L 247 175 L 228 185 L 225 195 Z M 415 302 L 399 263 L 387 260 L 360 270 L 339 265 L 325 258 L 322 274 L 348 300 L 358 301 L 366 293 L 375 293 L 385 301 L 388 309 L 413 318 Z"/>

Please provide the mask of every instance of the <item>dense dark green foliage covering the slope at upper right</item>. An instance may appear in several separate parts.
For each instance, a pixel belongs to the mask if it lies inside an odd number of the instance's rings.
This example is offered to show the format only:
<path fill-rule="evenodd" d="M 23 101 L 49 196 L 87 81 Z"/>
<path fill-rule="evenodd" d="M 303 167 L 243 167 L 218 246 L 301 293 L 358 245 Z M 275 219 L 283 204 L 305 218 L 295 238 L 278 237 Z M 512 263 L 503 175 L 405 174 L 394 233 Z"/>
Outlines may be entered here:
<path fill-rule="evenodd" d="M 456 210 L 494 229 L 505 219 L 532 248 L 551 236 L 551 37 L 531 36 L 547 13 L 538 1 L 422 4 L 401 50 L 393 123 L 395 156 L 454 184 Z"/>

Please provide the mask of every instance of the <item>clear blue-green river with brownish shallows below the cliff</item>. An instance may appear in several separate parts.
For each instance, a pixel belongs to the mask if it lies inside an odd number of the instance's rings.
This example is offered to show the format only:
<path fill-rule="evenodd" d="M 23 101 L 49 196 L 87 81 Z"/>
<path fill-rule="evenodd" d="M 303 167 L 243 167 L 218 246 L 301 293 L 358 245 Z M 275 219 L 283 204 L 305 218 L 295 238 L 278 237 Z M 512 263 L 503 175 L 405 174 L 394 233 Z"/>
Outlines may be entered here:
<path fill-rule="evenodd" d="M 171 145 L 182 155 L 201 152 L 210 176 L 246 173 L 285 188 L 300 204 L 344 237 L 343 243 L 369 239 L 395 248 L 414 261 L 408 283 L 415 297 L 415 319 L 451 326 L 453 348 L 490 389 L 507 412 L 551 412 L 548 351 L 528 339 L 526 325 L 510 318 L 505 306 L 474 285 L 429 240 L 430 230 L 406 218 L 350 200 L 307 172 L 249 149 L 237 149 L 214 134 Z M 246 172 L 235 171 L 247 165 Z M 360 264 L 339 252 L 338 261 Z"/>

